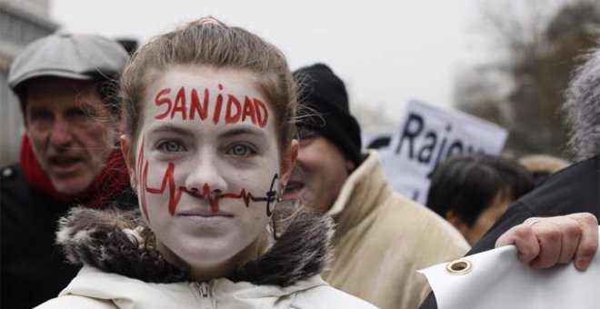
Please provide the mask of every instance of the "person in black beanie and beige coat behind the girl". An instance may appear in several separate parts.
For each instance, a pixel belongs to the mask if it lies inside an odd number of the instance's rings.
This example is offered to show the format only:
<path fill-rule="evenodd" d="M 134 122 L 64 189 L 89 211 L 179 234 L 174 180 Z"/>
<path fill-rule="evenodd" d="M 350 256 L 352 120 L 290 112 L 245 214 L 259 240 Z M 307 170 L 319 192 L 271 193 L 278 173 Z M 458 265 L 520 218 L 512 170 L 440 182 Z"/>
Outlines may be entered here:
<path fill-rule="evenodd" d="M 392 191 L 375 150 L 361 153 L 344 82 L 327 65 L 294 77 L 305 115 L 282 197 L 333 216 L 335 262 L 325 281 L 381 308 L 415 308 L 430 291 L 415 270 L 455 259 L 468 244 L 444 219 Z"/>

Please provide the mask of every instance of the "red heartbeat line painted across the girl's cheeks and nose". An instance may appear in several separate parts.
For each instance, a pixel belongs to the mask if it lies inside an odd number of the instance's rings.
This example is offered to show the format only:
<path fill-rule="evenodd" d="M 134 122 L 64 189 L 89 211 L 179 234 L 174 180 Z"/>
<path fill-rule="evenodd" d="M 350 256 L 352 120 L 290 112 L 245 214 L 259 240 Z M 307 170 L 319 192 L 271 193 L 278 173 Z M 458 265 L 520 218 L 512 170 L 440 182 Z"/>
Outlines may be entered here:
<path fill-rule="evenodd" d="M 142 160 L 144 160 L 144 142 L 142 143 L 142 149 L 140 150 L 139 160 L 140 160 L 140 162 L 142 162 Z M 145 194 L 146 193 L 164 194 L 167 189 L 168 189 L 168 193 L 169 193 L 168 211 L 169 211 L 169 214 L 171 214 L 171 215 L 175 214 L 175 210 L 177 209 L 177 204 L 179 204 L 179 201 L 181 200 L 181 196 L 184 193 L 188 194 L 192 197 L 198 198 L 198 199 L 208 199 L 208 202 L 209 202 L 210 208 L 211 208 L 211 212 L 213 214 L 218 213 L 219 201 L 224 198 L 242 199 L 244 201 L 246 207 L 249 207 L 251 201 L 252 202 L 267 202 L 267 214 L 269 213 L 269 211 L 268 211 L 269 204 L 275 202 L 275 191 L 273 191 L 273 184 L 272 184 L 270 191 L 266 193 L 265 197 L 262 197 L 262 196 L 255 197 L 252 193 L 246 192 L 245 189 L 242 189 L 242 191 L 239 194 L 228 193 L 228 194 L 213 194 L 213 195 L 211 195 L 210 185 L 208 185 L 208 184 L 205 184 L 203 186 L 202 193 L 200 193 L 196 190 L 189 190 L 185 186 L 175 187 L 175 178 L 174 178 L 175 164 L 173 164 L 173 163 L 169 163 L 167 165 L 165 174 L 163 175 L 163 181 L 161 183 L 160 188 L 151 188 L 151 187 L 148 187 L 148 182 L 147 182 L 148 168 L 149 168 L 148 161 L 147 160 L 145 161 L 143 169 L 141 167 L 142 167 L 142 164 L 138 163 L 138 168 L 140 171 L 142 171 L 142 174 L 140 177 L 141 186 L 142 186 L 142 209 L 144 211 L 144 215 L 145 215 L 146 219 L 148 219 L 148 220 L 149 220 L 149 218 L 148 218 Z M 277 174 L 275 174 L 275 176 L 274 176 L 274 182 L 275 182 L 276 177 L 277 177 Z"/>

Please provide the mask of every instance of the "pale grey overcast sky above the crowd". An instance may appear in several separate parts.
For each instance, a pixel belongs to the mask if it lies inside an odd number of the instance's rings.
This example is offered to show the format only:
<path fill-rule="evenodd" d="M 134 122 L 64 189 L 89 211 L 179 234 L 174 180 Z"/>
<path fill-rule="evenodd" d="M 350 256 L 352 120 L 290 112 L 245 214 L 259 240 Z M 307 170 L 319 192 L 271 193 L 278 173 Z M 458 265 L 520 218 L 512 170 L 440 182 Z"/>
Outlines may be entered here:
<path fill-rule="evenodd" d="M 473 63 L 478 0 L 194 1 L 51 0 L 72 32 L 144 42 L 205 15 L 279 46 L 292 69 L 324 62 L 346 83 L 351 106 L 370 105 L 399 122 L 418 99 L 449 107 L 457 69 Z M 480 57 L 480 56 L 479 56 Z"/>

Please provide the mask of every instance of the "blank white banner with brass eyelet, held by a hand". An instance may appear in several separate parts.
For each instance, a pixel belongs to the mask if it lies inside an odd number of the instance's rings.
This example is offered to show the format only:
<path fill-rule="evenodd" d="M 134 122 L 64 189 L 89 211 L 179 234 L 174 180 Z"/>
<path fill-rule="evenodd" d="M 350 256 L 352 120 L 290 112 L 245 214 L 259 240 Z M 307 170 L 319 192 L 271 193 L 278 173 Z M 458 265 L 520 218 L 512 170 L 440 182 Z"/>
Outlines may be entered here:
<path fill-rule="evenodd" d="M 600 308 L 598 254 L 585 272 L 573 263 L 534 270 L 516 254 L 510 245 L 419 272 L 434 290 L 438 309 Z"/>

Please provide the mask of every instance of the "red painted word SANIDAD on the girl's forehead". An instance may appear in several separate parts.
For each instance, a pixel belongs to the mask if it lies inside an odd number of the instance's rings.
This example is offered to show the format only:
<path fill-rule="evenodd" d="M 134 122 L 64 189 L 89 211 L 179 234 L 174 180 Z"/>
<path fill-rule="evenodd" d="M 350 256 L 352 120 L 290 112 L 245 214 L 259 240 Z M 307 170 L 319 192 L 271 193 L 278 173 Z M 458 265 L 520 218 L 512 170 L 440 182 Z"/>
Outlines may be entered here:
<path fill-rule="evenodd" d="M 247 95 L 244 98 L 225 95 L 222 93 L 221 84 L 218 89 L 212 99 L 208 88 L 200 92 L 195 88 L 186 89 L 185 86 L 180 87 L 176 92 L 171 88 L 162 89 L 155 96 L 155 105 L 164 106 L 165 111 L 155 115 L 155 118 L 173 119 L 175 115 L 179 115 L 184 120 L 204 121 L 208 118 L 215 124 L 220 121 L 225 121 L 225 124 L 235 124 L 250 119 L 253 124 L 265 127 L 269 113 L 263 101 Z"/>

